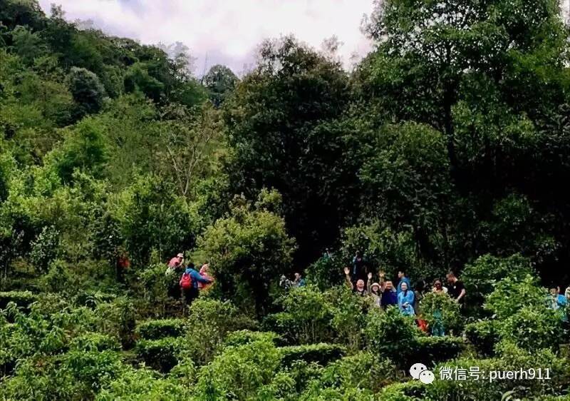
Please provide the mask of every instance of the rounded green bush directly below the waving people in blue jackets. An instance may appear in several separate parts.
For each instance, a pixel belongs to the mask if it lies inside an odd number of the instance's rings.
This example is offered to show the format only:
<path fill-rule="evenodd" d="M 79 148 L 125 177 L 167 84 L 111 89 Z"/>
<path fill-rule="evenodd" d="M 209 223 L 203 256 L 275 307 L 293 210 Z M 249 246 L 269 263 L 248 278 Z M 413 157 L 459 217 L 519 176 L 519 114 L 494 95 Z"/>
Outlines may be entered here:
<path fill-rule="evenodd" d="M 413 318 L 402 315 L 397 307 L 388 307 L 385 311 L 373 309 L 368 313 L 366 343 L 377 355 L 399 360 L 402 355 L 407 355 L 419 333 Z"/>

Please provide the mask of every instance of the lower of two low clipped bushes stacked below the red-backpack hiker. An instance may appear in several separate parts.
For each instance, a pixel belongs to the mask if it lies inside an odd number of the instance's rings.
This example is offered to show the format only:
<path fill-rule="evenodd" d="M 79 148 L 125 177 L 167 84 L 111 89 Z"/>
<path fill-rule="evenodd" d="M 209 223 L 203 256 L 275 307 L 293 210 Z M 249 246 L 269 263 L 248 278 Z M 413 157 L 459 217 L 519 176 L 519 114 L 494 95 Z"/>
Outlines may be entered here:
<path fill-rule="evenodd" d="M 183 338 L 165 337 L 160 340 L 140 340 L 135 352 L 145 365 L 160 372 L 170 372 L 187 350 Z"/>

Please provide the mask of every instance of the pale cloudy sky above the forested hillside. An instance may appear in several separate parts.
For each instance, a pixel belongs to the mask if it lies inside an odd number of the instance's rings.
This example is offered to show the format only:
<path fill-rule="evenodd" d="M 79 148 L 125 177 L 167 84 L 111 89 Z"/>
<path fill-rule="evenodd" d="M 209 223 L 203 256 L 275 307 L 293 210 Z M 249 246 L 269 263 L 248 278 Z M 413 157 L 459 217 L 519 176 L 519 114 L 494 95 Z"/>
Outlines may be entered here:
<path fill-rule="evenodd" d="M 224 64 L 241 74 L 267 38 L 294 34 L 316 49 L 336 36 L 343 65 L 364 56 L 371 44 L 361 33 L 373 0 L 40 0 L 49 14 L 61 4 L 66 19 L 91 20 L 107 34 L 142 44 L 182 42 L 196 58 L 195 73 Z M 205 67 L 205 68 L 204 68 Z"/>

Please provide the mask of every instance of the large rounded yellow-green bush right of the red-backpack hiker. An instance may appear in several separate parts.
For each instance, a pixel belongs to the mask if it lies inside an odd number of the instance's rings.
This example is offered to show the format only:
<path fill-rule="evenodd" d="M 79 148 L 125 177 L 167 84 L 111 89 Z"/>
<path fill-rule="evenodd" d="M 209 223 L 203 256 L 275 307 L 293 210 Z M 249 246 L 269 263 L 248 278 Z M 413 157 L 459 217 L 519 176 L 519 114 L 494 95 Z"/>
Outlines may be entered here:
<path fill-rule="evenodd" d="M 268 198 L 280 200 L 274 191 L 261 191 L 254 207 L 237 198 L 229 216 L 219 218 L 198 240 L 224 295 L 242 308 L 254 305 L 259 316 L 269 297 L 266 283 L 289 267 L 296 248 L 283 218 L 271 211 L 275 206 L 266 205 Z"/>

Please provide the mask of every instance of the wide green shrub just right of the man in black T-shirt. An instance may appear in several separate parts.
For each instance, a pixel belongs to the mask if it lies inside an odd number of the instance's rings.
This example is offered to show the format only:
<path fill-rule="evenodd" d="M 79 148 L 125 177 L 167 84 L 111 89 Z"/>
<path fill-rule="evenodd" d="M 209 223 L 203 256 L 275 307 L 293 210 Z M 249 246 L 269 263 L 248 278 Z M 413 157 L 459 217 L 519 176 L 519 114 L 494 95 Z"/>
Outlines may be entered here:
<path fill-rule="evenodd" d="M 480 305 L 503 278 L 522 280 L 527 275 L 533 274 L 530 260 L 521 255 L 512 255 L 509 258 L 483 255 L 465 266 L 462 280 L 469 294 L 469 302 Z"/>

